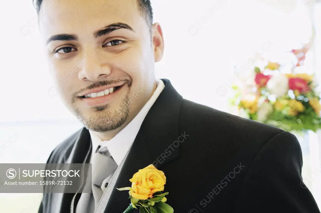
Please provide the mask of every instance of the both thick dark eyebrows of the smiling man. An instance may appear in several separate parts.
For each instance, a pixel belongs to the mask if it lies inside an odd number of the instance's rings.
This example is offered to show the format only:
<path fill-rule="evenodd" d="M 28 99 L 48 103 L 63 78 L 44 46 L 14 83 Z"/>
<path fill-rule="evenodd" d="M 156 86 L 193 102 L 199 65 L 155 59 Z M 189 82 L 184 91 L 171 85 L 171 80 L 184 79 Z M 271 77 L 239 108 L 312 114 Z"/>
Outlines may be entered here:
<path fill-rule="evenodd" d="M 129 29 L 135 32 L 135 30 L 132 27 L 130 27 L 128 24 L 118 22 L 118 23 L 106 25 L 105 27 L 95 31 L 93 33 L 93 37 L 99 38 L 101 36 L 108 35 L 109 33 L 117 29 Z M 78 36 L 75 34 L 57 34 L 57 35 L 52 35 L 50 38 L 48 38 L 46 45 L 48 45 L 48 43 L 52 41 L 77 41 L 77 40 L 78 40 Z"/>

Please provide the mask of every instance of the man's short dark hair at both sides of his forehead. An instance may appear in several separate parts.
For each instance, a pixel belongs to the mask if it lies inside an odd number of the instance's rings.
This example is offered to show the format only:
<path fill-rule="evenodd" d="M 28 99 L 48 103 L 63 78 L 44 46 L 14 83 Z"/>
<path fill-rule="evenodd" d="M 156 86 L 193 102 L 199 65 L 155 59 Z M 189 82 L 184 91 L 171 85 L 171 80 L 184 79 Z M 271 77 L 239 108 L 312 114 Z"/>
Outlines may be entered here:
<path fill-rule="evenodd" d="M 39 16 L 42 0 L 32 0 L 32 3 L 33 3 L 33 6 L 37 9 L 37 15 Z M 146 20 L 146 23 L 150 29 L 150 33 L 152 33 L 153 10 L 152 10 L 151 1 L 150 0 L 133 0 L 133 3 L 137 4 L 140 14 Z"/>

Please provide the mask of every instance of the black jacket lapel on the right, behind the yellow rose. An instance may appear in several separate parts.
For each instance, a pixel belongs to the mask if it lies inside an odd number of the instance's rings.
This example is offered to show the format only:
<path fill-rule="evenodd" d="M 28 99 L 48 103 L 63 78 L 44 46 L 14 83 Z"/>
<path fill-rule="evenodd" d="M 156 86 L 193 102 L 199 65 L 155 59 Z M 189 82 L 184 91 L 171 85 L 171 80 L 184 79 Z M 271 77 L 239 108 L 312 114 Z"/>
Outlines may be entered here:
<path fill-rule="evenodd" d="M 182 96 L 172 87 L 169 80 L 161 79 L 165 88 L 146 115 L 134 143 L 119 173 L 104 213 L 122 213 L 130 204 L 128 193 L 116 188 L 131 186 L 129 179 L 134 173 L 149 164 L 158 169 L 178 157 L 178 149 L 161 158 L 178 138 L 178 117 Z M 161 159 L 161 161 L 160 161 Z"/>

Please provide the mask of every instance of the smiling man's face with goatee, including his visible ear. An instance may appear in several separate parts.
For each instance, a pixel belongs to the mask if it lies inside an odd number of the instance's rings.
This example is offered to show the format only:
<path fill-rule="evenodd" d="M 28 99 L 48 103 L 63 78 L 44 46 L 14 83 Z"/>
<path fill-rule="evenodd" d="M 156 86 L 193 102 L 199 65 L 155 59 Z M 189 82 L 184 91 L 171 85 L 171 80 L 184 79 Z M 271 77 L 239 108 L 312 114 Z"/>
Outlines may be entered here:
<path fill-rule="evenodd" d="M 160 26 L 151 35 L 134 0 L 53 2 L 42 3 L 39 30 L 63 103 L 88 129 L 117 129 L 150 98 Z"/>

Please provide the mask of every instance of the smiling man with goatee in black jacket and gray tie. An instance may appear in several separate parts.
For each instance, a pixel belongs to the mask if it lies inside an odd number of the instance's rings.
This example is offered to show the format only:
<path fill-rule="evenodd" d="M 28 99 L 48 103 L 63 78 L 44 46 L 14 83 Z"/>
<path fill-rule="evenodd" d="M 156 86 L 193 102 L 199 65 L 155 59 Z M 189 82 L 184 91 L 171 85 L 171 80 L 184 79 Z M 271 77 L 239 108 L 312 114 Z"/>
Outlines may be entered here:
<path fill-rule="evenodd" d="M 47 163 L 93 167 L 92 193 L 44 194 L 39 213 L 123 212 L 128 194 L 116 188 L 150 164 L 165 173 L 175 212 L 320 212 L 291 133 L 183 99 L 156 79 L 164 40 L 149 0 L 36 5 L 50 72 L 84 125 Z"/>

